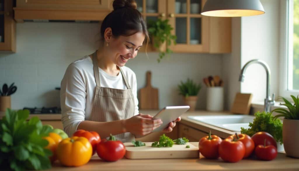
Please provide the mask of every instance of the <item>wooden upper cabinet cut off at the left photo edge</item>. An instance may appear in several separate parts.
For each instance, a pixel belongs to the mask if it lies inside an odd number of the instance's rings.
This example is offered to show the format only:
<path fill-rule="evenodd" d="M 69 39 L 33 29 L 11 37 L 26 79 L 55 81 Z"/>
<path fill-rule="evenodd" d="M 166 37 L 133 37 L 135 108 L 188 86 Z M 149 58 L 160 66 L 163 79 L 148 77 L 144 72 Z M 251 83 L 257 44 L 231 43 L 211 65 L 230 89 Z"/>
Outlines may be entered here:
<path fill-rule="evenodd" d="M 16 22 L 13 1 L 0 0 L 0 51 L 16 52 Z"/>

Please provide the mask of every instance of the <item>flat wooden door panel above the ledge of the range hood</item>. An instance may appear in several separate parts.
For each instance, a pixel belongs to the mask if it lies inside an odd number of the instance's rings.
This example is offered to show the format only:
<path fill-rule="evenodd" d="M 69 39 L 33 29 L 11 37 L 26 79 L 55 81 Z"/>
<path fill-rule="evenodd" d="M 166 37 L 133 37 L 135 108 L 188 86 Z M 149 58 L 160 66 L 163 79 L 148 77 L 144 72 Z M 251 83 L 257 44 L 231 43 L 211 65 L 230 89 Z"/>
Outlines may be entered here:
<path fill-rule="evenodd" d="M 109 9 L 112 0 L 17 0 L 20 8 Z"/>

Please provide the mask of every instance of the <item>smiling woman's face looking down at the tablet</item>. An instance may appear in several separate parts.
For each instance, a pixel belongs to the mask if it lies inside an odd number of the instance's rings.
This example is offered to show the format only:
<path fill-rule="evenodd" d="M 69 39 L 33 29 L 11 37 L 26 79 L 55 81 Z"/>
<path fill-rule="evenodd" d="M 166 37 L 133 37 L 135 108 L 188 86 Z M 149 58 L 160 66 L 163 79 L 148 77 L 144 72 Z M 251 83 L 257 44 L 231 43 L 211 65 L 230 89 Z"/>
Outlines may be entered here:
<path fill-rule="evenodd" d="M 130 59 L 135 58 L 144 38 L 145 35 L 142 32 L 137 32 L 131 36 L 112 37 L 109 42 L 109 50 L 114 54 L 112 61 L 117 66 L 124 66 Z"/>

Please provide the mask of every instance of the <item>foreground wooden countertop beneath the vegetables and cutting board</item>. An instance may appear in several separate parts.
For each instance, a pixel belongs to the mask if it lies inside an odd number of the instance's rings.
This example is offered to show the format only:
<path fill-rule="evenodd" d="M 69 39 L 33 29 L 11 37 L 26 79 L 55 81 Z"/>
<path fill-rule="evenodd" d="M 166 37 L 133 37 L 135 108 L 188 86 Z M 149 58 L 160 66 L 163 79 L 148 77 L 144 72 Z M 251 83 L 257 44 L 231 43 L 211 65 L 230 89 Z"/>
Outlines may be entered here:
<path fill-rule="evenodd" d="M 192 142 L 198 147 L 198 142 Z M 208 160 L 203 156 L 194 159 L 126 159 L 116 162 L 102 161 L 97 154 L 81 167 L 63 167 L 58 161 L 53 164 L 50 170 L 70 171 L 189 171 L 189 170 L 299 170 L 299 159 L 286 157 L 278 153 L 277 158 L 272 161 L 259 161 L 256 159 L 245 159 L 237 163 L 226 163 L 221 159 Z"/>

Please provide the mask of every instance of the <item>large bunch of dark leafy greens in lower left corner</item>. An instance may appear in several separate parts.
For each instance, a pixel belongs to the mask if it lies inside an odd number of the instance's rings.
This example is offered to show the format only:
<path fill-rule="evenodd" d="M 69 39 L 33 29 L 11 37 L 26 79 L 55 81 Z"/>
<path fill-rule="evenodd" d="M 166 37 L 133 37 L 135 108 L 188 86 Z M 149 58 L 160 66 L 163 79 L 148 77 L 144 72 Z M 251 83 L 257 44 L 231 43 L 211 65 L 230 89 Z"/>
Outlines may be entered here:
<path fill-rule="evenodd" d="M 16 171 L 51 168 L 48 156 L 52 152 L 44 149 L 48 141 L 42 137 L 52 129 L 43 126 L 38 117 L 27 121 L 28 116 L 28 110 L 7 109 L 0 120 L 0 168 Z"/>

